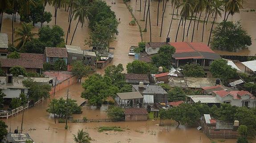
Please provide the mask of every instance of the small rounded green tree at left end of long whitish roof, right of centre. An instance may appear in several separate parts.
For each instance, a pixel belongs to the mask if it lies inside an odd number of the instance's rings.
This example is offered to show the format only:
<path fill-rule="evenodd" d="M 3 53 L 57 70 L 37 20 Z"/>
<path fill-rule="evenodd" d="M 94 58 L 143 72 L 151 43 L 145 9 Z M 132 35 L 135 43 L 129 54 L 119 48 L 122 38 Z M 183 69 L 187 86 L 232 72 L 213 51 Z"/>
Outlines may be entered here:
<path fill-rule="evenodd" d="M 181 87 L 175 86 L 168 92 L 168 100 L 170 101 L 179 101 L 185 100 L 186 93 Z"/>

